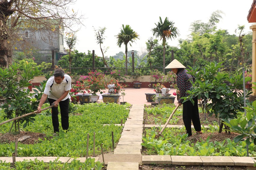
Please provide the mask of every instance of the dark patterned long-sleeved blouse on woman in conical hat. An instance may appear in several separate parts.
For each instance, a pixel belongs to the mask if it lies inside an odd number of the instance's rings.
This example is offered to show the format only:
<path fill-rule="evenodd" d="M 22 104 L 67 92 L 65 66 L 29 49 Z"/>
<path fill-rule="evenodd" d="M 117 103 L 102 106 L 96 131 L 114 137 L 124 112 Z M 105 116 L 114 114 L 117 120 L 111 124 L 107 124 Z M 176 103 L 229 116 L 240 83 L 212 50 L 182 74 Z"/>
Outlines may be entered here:
<path fill-rule="evenodd" d="M 187 70 L 182 69 L 177 74 L 177 86 L 180 91 L 180 97 L 189 96 L 186 91 L 190 90 L 192 84 L 190 83 L 190 79 L 193 78 L 190 74 L 187 73 Z M 193 80 L 194 81 L 194 80 Z M 182 103 L 184 99 L 179 99 L 179 103 Z"/>

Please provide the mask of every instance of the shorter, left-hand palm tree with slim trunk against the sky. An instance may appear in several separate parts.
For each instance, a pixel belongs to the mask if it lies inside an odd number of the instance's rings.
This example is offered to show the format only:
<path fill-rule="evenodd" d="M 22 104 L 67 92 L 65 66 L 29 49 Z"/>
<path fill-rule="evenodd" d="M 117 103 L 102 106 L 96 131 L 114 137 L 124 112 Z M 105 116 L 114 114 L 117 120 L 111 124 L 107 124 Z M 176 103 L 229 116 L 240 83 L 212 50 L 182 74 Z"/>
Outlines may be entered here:
<path fill-rule="evenodd" d="M 121 28 L 120 33 L 116 35 L 117 37 L 117 45 L 119 48 L 122 44 L 125 45 L 125 73 L 127 74 L 127 44 L 129 43 L 130 46 L 132 46 L 131 43 L 133 43 L 137 38 L 139 39 L 139 34 L 130 27 L 130 25 L 122 25 L 123 28 Z"/>

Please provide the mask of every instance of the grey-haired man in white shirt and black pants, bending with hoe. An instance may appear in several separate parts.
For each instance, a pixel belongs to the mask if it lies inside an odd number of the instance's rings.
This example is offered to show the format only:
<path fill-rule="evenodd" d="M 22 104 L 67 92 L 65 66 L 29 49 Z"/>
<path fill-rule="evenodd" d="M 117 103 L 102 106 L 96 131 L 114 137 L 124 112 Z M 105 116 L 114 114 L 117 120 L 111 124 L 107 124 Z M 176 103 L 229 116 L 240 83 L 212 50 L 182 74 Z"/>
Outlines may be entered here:
<path fill-rule="evenodd" d="M 42 95 L 37 111 L 40 113 L 41 107 L 48 97 L 52 107 L 52 125 L 54 130 L 54 136 L 58 135 L 59 132 L 59 119 L 58 119 L 58 105 L 61 110 L 61 126 L 64 131 L 68 131 L 69 127 L 69 91 L 71 89 L 71 78 L 65 74 L 62 69 L 56 69 L 52 77 L 48 79 L 45 85 L 44 94 Z"/>

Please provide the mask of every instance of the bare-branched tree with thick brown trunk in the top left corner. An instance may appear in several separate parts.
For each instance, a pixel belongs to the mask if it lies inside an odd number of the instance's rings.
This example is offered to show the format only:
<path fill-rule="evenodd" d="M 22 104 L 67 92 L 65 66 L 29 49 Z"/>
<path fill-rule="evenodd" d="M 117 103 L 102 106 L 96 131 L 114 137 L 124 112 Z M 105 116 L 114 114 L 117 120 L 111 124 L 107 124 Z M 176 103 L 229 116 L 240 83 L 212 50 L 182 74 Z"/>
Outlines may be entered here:
<path fill-rule="evenodd" d="M 80 23 L 80 17 L 68 7 L 75 0 L 1 0 L 0 1 L 0 67 L 12 63 L 12 47 L 15 41 L 23 40 L 17 28 L 32 31 L 49 29 L 56 31 L 71 28 Z"/>

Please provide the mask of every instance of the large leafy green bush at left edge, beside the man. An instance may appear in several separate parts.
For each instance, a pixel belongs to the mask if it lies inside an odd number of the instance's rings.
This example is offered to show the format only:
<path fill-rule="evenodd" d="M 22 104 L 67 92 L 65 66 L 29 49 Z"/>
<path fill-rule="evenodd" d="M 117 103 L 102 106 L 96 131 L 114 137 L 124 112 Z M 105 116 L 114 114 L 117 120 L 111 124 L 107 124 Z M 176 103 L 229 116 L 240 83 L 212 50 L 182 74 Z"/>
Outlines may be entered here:
<path fill-rule="evenodd" d="M 11 119 L 37 109 L 41 98 L 40 94 L 30 93 L 28 87 L 31 85 L 30 80 L 40 74 L 41 70 L 37 67 L 33 68 L 33 64 L 28 62 L 19 66 L 14 63 L 4 70 L 0 68 L 0 96 L 5 98 L 5 103 L 2 106 L 5 111 L 4 118 Z M 35 120 L 33 116 L 20 119 L 20 123 L 25 121 L 23 127 L 26 127 L 29 122 L 33 123 Z M 14 122 L 16 125 L 17 121 Z M 17 128 L 15 128 L 16 130 Z"/>

